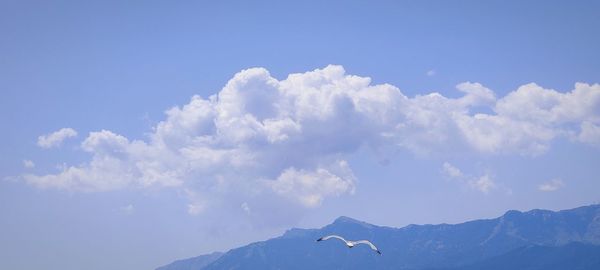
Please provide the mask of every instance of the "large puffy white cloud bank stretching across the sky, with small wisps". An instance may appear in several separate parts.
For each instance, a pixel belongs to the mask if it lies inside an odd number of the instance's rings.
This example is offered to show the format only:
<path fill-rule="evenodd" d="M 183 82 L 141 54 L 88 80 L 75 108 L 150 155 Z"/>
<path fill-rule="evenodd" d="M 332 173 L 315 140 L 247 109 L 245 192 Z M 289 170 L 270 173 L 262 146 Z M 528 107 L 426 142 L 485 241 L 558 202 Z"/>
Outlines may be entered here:
<path fill-rule="evenodd" d="M 347 75 L 341 66 L 284 80 L 251 68 L 218 94 L 167 110 L 145 139 L 91 132 L 81 143 L 88 162 L 22 178 L 80 191 L 171 187 L 189 195 L 190 214 L 225 197 L 239 197 L 237 209 L 245 203 L 254 211 L 258 196 L 316 207 L 327 197 L 351 194 L 356 179 L 345 160 L 361 148 L 386 160 L 397 150 L 535 156 L 557 138 L 599 145 L 598 84 L 577 83 L 560 93 L 532 83 L 501 98 L 479 83 L 457 89 L 459 98 L 407 97 L 393 85 Z M 61 129 L 40 136 L 38 144 L 56 146 L 76 134 Z M 461 175 L 447 165 L 451 176 Z M 484 193 L 495 187 L 485 175 L 472 183 Z"/>

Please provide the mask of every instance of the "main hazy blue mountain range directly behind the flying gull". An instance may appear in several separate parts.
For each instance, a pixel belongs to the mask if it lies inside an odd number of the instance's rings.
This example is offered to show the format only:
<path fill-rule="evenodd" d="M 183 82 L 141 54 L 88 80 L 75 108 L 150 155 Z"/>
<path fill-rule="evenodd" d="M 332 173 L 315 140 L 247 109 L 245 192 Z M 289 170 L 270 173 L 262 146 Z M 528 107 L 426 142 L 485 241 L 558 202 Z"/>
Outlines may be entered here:
<path fill-rule="evenodd" d="M 315 242 L 332 233 L 369 239 L 383 255 L 364 245 L 347 249 L 336 241 Z M 535 252 L 577 250 L 572 242 L 600 245 L 600 205 L 558 212 L 511 210 L 495 219 L 403 228 L 340 217 L 320 229 L 291 229 L 283 236 L 232 249 L 197 269 L 461 269 L 477 267 L 477 263 L 494 264 L 494 258 L 526 259 Z M 539 258 L 541 265 L 544 257 Z"/>

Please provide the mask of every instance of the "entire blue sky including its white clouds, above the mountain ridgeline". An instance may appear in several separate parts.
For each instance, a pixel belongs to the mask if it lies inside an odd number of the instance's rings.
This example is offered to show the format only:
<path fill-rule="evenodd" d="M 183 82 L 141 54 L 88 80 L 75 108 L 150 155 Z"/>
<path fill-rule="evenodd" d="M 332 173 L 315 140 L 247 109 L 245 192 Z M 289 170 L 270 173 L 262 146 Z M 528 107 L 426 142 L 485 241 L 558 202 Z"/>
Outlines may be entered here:
<path fill-rule="evenodd" d="M 600 202 L 597 1 L 0 1 L 0 268 Z"/>

